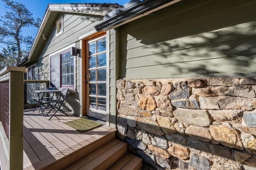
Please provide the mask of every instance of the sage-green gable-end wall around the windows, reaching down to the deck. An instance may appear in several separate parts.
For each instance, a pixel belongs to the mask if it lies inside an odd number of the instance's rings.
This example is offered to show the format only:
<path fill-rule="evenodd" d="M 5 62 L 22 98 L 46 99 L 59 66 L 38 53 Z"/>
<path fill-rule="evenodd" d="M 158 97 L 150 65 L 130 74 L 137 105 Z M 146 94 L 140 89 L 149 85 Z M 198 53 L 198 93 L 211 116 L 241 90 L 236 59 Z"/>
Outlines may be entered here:
<path fill-rule="evenodd" d="M 55 21 L 58 20 L 60 16 L 61 15 L 57 15 L 56 18 L 49 19 L 54 20 L 54 22 L 52 26 L 49 26 L 52 27 L 51 34 L 46 35 L 46 43 L 38 57 L 38 79 L 50 80 L 49 55 L 73 43 L 76 43 L 77 48 L 82 48 L 80 47 L 79 37 L 94 30 L 94 25 L 102 20 L 101 18 L 89 16 L 63 14 L 63 33 L 56 37 Z M 80 99 L 82 97 L 80 92 L 80 55 L 78 54 L 76 56 L 75 61 L 75 87 L 72 93 L 69 93 L 69 96 L 66 98 L 66 109 L 70 112 L 74 112 L 77 116 L 81 115 Z"/>

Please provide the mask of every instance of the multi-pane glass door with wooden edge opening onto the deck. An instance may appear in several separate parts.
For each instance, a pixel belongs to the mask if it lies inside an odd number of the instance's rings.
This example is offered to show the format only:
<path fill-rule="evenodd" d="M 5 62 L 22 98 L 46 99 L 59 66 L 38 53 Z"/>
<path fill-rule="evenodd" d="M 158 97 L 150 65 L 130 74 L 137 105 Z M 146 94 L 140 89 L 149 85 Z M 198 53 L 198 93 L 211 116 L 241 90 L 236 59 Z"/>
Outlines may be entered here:
<path fill-rule="evenodd" d="M 106 36 L 87 42 L 86 115 L 106 121 Z"/>

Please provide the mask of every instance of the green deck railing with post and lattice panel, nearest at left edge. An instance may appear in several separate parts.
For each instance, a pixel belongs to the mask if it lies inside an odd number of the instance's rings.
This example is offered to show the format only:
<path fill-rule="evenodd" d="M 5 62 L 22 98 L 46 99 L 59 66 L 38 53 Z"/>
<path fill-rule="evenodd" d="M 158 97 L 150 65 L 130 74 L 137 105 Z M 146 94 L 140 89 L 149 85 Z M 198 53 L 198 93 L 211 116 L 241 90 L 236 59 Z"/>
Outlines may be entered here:
<path fill-rule="evenodd" d="M 0 71 L 0 164 L 3 169 L 23 168 L 24 67 Z"/>

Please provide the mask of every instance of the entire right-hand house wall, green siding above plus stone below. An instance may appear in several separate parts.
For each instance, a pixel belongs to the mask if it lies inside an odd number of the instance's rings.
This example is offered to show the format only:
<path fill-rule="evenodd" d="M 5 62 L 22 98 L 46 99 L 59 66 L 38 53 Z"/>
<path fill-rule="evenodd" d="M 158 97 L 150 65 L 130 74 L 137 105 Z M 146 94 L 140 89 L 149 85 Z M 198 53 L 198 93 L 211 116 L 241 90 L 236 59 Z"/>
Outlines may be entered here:
<path fill-rule="evenodd" d="M 130 151 L 158 168 L 256 167 L 255 7 L 184 0 L 117 29 L 117 128 Z"/>

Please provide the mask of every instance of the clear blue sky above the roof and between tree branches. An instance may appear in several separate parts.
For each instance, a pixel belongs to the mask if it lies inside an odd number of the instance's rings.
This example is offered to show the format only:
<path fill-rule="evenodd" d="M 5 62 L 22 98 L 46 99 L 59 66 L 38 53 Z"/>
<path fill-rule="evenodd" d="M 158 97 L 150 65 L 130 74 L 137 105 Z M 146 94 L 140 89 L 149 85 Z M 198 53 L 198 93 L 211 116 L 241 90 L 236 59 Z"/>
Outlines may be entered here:
<path fill-rule="evenodd" d="M 123 5 L 130 0 L 13 0 L 14 2 L 19 2 L 28 8 L 30 13 L 33 14 L 34 19 L 40 18 L 41 20 L 44 17 L 44 13 L 48 4 L 66 4 L 66 3 L 117 3 L 119 5 Z M 4 16 L 6 9 L 4 7 L 5 3 L 0 0 L 0 16 Z M 29 35 L 33 38 L 36 37 L 36 33 L 38 28 L 25 27 L 22 28 L 22 34 L 24 36 Z M 22 49 L 25 49 L 26 46 L 22 45 Z M 0 50 L 2 50 L 0 44 Z"/>

